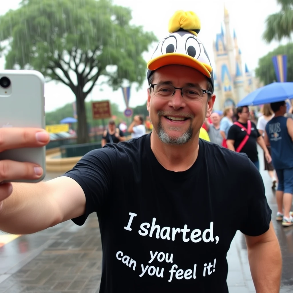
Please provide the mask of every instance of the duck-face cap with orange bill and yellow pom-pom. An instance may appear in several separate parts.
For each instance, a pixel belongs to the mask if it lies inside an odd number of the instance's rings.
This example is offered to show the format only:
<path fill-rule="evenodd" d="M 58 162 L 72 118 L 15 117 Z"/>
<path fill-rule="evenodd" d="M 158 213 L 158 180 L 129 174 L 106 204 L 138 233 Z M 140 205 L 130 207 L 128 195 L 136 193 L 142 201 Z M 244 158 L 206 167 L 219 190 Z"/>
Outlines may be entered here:
<path fill-rule="evenodd" d="M 147 79 L 160 67 L 166 65 L 185 65 L 200 71 L 212 84 L 213 69 L 209 57 L 197 38 L 200 20 L 192 11 L 176 11 L 169 21 L 170 35 L 159 42 L 151 60 L 147 64 Z"/>

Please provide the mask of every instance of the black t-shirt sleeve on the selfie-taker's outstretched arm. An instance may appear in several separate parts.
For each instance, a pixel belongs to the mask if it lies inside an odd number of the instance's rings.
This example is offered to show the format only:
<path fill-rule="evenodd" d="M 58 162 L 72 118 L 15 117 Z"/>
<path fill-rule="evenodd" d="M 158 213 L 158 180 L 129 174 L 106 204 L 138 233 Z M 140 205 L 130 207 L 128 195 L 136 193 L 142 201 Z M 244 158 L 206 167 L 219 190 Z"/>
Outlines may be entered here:
<path fill-rule="evenodd" d="M 99 217 L 113 184 L 116 163 L 117 152 L 115 148 L 105 146 L 102 149 L 88 152 L 76 163 L 74 168 L 63 175 L 74 179 L 86 196 L 85 213 L 72 219 L 75 224 L 83 225 L 92 212 L 96 212 Z"/>

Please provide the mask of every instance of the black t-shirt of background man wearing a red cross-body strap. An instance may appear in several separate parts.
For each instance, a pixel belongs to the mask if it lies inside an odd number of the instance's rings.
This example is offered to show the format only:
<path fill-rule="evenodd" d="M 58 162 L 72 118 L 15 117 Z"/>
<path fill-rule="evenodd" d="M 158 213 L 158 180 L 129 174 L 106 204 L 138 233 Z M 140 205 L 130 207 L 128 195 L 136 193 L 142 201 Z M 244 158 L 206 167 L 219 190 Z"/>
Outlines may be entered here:
<path fill-rule="evenodd" d="M 247 129 L 247 123 L 239 123 Z M 234 148 L 237 149 L 243 141 L 246 134 L 246 131 L 243 131 L 238 125 L 234 124 L 229 129 L 227 139 L 234 140 Z M 258 137 L 260 137 L 260 133 L 258 132 L 256 125 L 253 122 L 251 122 L 251 133 L 246 144 L 242 148 L 241 153 L 247 154 L 248 158 L 251 159 L 252 162 L 258 161 L 258 152 L 256 146 L 256 139 Z"/>

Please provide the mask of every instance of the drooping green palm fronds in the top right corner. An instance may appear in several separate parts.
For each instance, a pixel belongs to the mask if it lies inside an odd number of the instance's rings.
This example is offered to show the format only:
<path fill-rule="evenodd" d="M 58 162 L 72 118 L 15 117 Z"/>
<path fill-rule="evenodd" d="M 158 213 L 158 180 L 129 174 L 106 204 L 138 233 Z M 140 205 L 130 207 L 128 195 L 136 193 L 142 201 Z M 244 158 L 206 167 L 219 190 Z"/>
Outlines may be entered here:
<path fill-rule="evenodd" d="M 283 38 L 290 40 L 293 31 L 293 0 L 277 0 L 277 3 L 281 4 L 281 10 L 266 19 L 263 39 L 268 43 Z"/>

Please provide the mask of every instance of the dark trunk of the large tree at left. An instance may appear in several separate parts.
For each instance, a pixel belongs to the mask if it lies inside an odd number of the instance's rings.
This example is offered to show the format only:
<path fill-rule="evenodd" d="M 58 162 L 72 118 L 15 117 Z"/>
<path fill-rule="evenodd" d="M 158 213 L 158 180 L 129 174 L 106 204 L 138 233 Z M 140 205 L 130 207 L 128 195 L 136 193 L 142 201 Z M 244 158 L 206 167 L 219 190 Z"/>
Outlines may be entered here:
<path fill-rule="evenodd" d="M 89 142 L 88 125 L 86 120 L 85 97 L 82 89 L 77 89 L 76 93 L 76 112 L 77 112 L 77 143 L 84 144 Z"/>

